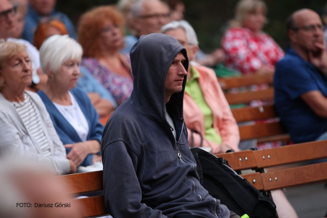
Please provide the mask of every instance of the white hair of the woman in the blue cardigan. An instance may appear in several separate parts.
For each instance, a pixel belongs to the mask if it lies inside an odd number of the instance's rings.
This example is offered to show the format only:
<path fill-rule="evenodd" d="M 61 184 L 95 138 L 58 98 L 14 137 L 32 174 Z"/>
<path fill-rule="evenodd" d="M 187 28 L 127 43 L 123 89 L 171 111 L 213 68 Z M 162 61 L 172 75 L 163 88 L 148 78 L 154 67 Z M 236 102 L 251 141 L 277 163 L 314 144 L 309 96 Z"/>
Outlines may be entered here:
<path fill-rule="evenodd" d="M 68 35 L 53 35 L 47 38 L 40 47 L 40 62 L 43 72 L 58 71 L 62 63 L 78 60 L 82 57 L 83 48 Z"/>

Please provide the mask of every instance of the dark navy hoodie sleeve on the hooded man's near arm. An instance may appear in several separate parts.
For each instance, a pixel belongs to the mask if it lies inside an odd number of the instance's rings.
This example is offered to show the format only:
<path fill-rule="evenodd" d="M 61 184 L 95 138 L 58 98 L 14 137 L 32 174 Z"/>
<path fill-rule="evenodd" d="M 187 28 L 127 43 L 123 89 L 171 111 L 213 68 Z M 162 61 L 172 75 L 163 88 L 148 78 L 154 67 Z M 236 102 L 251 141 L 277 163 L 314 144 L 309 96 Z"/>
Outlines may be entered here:
<path fill-rule="evenodd" d="M 136 167 L 138 158 L 123 141 L 114 141 L 102 151 L 105 207 L 113 217 L 167 218 L 141 202 L 142 191 Z"/>

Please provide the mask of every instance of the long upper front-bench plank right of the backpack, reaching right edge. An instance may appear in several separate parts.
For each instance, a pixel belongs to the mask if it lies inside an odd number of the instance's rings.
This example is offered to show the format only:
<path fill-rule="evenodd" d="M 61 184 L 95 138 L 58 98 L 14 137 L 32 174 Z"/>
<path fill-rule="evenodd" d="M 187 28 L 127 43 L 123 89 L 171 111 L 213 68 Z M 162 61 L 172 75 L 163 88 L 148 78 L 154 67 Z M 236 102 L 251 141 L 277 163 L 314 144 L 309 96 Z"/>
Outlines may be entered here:
<path fill-rule="evenodd" d="M 258 168 L 325 158 L 327 157 L 327 140 L 253 151 L 253 155 Z"/>

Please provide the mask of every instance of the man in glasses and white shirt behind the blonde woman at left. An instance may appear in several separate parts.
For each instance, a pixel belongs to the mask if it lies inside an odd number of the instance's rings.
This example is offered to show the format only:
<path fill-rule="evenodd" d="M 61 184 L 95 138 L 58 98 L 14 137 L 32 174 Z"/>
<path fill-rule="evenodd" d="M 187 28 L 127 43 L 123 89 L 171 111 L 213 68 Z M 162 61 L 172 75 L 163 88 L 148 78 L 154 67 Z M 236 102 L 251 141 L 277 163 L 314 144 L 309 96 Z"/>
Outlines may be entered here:
<path fill-rule="evenodd" d="M 40 89 L 47 81 L 47 75 L 43 74 L 42 69 L 40 68 L 40 57 L 39 51 L 31 45 L 26 40 L 19 39 L 20 33 L 22 32 L 21 21 L 18 21 L 16 18 L 17 7 L 14 6 L 8 0 L 0 0 L 0 39 L 6 41 L 15 41 L 22 43 L 26 46 L 26 51 L 31 59 L 32 64 L 32 84 L 27 88 L 32 88 L 32 90 Z M 23 10 L 18 10 L 18 16 L 23 18 Z M 21 15 L 19 15 L 21 14 Z M 18 37 L 18 38 L 16 38 Z"/>

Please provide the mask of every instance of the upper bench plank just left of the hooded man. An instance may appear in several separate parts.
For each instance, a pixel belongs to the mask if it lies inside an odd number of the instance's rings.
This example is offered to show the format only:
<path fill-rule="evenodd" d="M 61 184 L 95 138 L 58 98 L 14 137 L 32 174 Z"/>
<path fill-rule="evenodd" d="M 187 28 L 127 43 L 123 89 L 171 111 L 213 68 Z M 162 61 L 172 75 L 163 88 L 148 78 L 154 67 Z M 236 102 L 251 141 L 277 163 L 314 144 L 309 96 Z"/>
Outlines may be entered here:
<path fill-rule="evenodd" d="M 62 179 L 70 185 L 70 194 L 81 194 L 103 190 L 102 171 L 63 175 Z"/>

